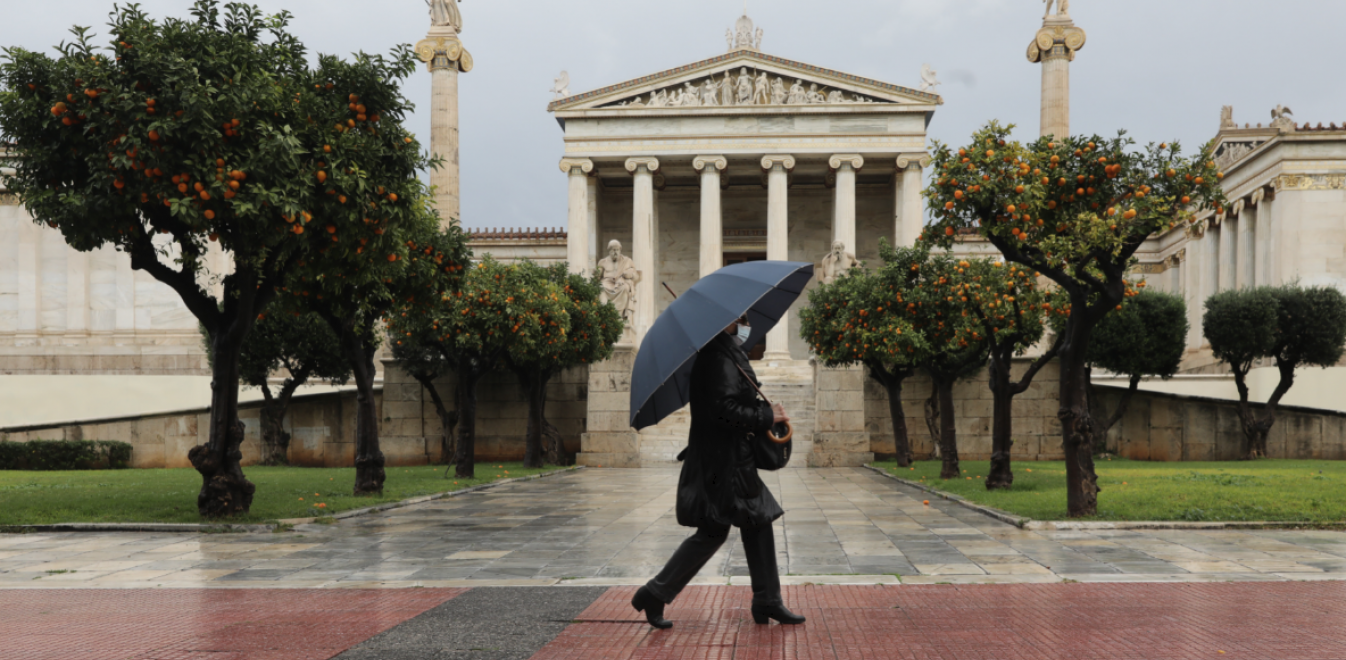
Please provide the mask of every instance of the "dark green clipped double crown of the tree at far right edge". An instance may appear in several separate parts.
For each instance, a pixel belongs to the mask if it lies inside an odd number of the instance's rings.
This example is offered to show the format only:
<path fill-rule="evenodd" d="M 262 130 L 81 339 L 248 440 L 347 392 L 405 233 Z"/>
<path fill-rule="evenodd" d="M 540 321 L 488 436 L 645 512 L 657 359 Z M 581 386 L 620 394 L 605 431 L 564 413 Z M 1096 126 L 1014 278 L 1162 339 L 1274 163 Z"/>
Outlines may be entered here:
<path fill-rule="evenodd" d="M 1214 356 L 1246 373 L 1259 358 L 1331 366 L 1346 345 L 1346 296 L 1335 287 L 1259 287 L 1206 299 L 1202 330 Z"/>

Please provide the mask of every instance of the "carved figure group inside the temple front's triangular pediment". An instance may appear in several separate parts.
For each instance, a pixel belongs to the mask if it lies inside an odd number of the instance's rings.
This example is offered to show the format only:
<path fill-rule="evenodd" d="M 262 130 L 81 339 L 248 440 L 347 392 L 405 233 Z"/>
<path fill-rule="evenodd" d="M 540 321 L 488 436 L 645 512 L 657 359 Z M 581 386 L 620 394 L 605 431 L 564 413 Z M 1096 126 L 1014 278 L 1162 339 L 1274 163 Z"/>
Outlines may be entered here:
<path fill-rule="evenodd" d="M 843 105 L 872 104 L 875 98 L 828 88 L 802 78 L 771 75 L 740 67 L 682 81 L 607 104 L 606 108 L 707 108 L 730 105 Z M 888 101 L 883 101 L 888 102 Z"/>

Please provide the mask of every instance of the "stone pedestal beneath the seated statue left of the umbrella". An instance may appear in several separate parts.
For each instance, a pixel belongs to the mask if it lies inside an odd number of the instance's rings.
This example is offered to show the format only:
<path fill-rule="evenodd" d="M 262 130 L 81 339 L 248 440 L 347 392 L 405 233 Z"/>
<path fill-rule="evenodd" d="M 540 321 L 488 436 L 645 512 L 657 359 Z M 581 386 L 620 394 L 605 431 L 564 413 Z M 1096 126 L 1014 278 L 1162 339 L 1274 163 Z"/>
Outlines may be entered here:
<path fill-rule="evenodd" d="M 639 467 L 641 435 L 631 428 L 635 346 L 618 343 L 612 357 L 590 366 L 588 426 L 576 462 L 586 467 Z"/>

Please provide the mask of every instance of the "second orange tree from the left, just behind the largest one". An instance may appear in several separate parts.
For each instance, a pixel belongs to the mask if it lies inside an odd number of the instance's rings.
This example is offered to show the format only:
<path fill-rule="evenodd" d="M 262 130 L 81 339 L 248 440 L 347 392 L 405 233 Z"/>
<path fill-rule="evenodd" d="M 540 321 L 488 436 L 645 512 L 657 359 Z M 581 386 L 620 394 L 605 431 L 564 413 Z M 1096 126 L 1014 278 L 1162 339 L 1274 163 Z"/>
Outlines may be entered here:
<path fill-rule="evenodd" d="M 439 299 L 452 291 L 468 263 L 462 229 L 439 229 L 439 216 L 429 209 L 431 199 L 420 180 L 409 178 L 401 183 L 402 195 L 374 189 L 369 193 L 378 195 L 378 202 L 351 207 L 338 198 L 320 209 L 314 216 L 314 225 L 320 229 L 312 232 L 314 249 L 288 287 L 289 304 L 312 310 L 336 334 L 354 376 L 355 494 L 384 490 L 374 397 L 374 357 L 382 341 L 380 321 L 397 306 Z M 338 176 L 328 179 L 328 185 L 359 187 L 361 180 L 353 178 L 346 183 Z M 376 217 L 354 225 L 341 222 L 342 216 L 366 213 Z M 339 225 L 361 229 L 335 230 Z"/>

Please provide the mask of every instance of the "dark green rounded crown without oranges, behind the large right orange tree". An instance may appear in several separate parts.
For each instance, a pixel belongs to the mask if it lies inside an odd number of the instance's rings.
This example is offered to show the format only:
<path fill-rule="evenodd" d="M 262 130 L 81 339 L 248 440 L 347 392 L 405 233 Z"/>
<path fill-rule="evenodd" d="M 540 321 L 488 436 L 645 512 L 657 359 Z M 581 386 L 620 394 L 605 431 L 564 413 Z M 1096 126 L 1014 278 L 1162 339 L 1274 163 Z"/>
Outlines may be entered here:
<path fill-rule="evenodd" d="M 1187 352 L 1187 327 L 1182 296 L 1140 291 L 1094 327 L 1086 360 L 1112 373 L 1168 378 Z"/>

